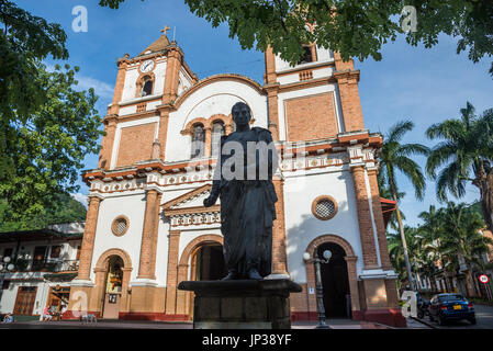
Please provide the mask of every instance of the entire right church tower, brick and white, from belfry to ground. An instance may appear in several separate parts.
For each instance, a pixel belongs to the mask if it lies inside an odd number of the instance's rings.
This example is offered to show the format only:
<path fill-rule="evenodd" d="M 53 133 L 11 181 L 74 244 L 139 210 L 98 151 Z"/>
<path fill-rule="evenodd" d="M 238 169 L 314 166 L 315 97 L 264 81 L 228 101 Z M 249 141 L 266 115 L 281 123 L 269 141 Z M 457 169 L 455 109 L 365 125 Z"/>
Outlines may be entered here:
<path fill-rule="evenodd" d="M 357 214 L 357 218 L 349 220 L 356 222 L 355 231 L 336 231 L 336 225 L 327 220 L 326 224 L 320 224 L 320 234 L 312 234 L 315 238 L 306 251 L 313 257 L 317 246 L 330 242 L 345 249 L 352 319 L 405 326 L 399 306 L 397 275 L 390 263 L 385 236 L 391 211 L 385 211 L 383 215 L 382 205 L 389 204 L 389 201 L 380 199 L 377 181 L 376 155 L 383 139 L 380 134 L 372 134 L 365 127 L 358 92 L 360 72 L 355 69 L 352 59 L 344 61 L 338 53 L 318 48 L 314 44 L 304 45 L 303 49 L 305 55 L 294 67 L 276 56 L 270 47 L 266 50 L 264 78 L 269 111 L 268 127 L 274 140 L 282 145 L 284 156 L 296 156 L 300 143 L 304 145 L 301 152 L 306 155 L 309 163 L 318 162 L 322 158 L 330 161 L 332 155 L 341 155 L 330 162 L 332 166 L 340 166 L 340 174 L 348 174 L 347 180 L 344 184 L 327 181 L 320 192 L 326 194 L 334 192 L 337 186 L 348 188 L 347 192 L 354 194 L 347 201 L 348 206 L 354 204 L 349 211 Z M 285 161 L 282 169 L 284 177 L 289 177 L 293 170 L 287 167 Z M 279 181 L 278 186 L 283 186 L 284 219 L 290 217 L 289 203 L 301 201 L 293 200 L 295 195 L 288 195 L 287 180 Z M 310 196 L 310 182 L 306 186 L 305 196 Z M 316 213 L 314 215 L 317 216 Z M 303 238 L 298 233 L 299 227 L 290 228 L 285 222 L 282 230 L 284 236 L 276 237 L 274 231 L 274 241 L 283 242 L 277 247 L 284 247 L 289 252 L 290 242 L 300 245 Z M 351 242 L 351 235 L 356 237 L 355 244 L 348 244 Z M 276 256 L 273 252 L 274 267 L 282 259 L 282 254 Z M 294 269 L 298 262 L 292 254 L 291 258 L 288 254 L 287 270 Z M 280 264 L 280 268 L 285 265 Z M 292 313 L 300 319 L 316 319 L 315 295 L 313 290 L 309 292 L 315 285 L 315 272 L 311 264 L 306 264 L 305 269 L 306 285 L 302 294 L 293 296 Z"/>

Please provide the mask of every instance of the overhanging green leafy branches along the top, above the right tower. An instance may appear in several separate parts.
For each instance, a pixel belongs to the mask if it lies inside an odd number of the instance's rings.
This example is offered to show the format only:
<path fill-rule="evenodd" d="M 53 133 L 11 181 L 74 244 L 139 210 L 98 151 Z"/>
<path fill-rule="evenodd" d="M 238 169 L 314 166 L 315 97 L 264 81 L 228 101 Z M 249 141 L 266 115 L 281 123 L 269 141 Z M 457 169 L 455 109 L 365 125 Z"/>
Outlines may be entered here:
<path fill-rule="evenodd" d="M 100 0 L 117 9 L 125 0 Z M 404 34 L 411 45 L 429 48 L 440 34 L 458 38 L 457 53 L 468 52 L 478 63 L 493 54 L 493 1 L 491 0 L 184 0 L 190 11 L 214 27 L 229 26 L 243 48 L 262 52 L 270 45 L 282 59 L 296 64 L 301 44 L 340 53 L 344 59 L 382 58 L 381 47 Z M 414 7 L 416 30 L 407 31 Z M 306 23 L 316 23 L 306 26 Z M 407 31 L 407 32 L 405 32 Z M 490 70 L 493 75 L 493 65 Z"/>

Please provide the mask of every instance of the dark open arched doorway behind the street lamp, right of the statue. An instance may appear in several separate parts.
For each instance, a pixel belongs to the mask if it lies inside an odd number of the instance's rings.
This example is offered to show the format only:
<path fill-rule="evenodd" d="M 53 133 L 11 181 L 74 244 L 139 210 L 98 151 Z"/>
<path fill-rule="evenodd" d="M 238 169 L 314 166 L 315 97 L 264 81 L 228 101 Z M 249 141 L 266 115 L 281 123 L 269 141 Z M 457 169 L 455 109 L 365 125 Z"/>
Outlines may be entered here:
<path fill-rule="evenodd" d="M 322 258 L 325 250 L 332 251 L 329 262 L 321 264 L 325 316 L 327 319 L 351 318 L 346 252 L 339 245 L 326 242 L 318 246 L 318 257 Z"/>

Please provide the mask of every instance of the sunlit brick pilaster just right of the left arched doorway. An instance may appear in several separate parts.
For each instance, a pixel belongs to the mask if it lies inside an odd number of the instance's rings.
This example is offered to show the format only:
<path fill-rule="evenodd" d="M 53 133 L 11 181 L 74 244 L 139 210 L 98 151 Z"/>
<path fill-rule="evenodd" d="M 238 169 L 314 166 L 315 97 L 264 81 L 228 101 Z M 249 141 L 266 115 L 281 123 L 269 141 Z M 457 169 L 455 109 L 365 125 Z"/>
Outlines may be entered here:
<path fill-rule="evenodd" d="M 159 223 L 159 202 L 161 194 L 149 189 L 146 193 L 146 210 L 142 230 L 141 263 L 137 279 L 156 279 L 157 225 Z"/>

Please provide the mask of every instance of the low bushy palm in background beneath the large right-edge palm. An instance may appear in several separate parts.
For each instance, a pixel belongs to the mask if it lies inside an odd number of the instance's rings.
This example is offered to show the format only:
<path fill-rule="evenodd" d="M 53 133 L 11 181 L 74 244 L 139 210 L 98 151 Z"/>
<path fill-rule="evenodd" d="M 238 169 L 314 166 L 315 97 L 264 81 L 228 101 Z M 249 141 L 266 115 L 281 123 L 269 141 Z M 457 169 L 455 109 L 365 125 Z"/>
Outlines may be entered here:
<path fill-rule="evenodd" d="M 467 285 L 470 296 L 475 296 L 473 267 L 483 268 L 481 253 L 488 250 L 493 240 L 484 237 L 481 229 L 484 222 L 481 215 L 471 211 L 466 204 L 447 203 L 442 216 L 441 247 L 449 257 L 461 257 L 467 267 Z"/>

